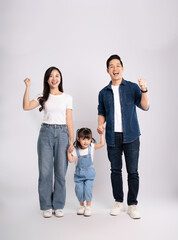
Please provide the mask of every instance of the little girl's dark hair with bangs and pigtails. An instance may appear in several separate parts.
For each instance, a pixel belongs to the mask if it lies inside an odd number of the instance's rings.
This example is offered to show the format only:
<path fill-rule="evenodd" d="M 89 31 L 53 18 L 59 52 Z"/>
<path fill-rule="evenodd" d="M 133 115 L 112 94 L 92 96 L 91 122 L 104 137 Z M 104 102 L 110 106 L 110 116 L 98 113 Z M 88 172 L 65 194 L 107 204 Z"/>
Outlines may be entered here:
<path fill-rule="evenodd" d="M 80 128 L 77 130 L 74 146 L 77 148 L 82 148 L 80 142 L 77 140 L 77 137 L 83 138 L 83 139 L 87 138 L 88 140 L 91 139 L 91 142 L 93 142 L 93 143 L 96 142 L 96 140 L 92 137 L 92 131 L 89 128 Z"/>

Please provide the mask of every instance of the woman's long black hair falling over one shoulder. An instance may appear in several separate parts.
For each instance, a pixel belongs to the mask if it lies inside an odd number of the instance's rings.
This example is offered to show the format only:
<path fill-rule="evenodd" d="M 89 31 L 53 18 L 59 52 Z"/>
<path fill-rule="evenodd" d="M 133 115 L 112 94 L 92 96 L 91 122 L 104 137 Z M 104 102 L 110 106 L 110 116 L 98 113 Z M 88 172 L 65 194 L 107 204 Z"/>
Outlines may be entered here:
<path fill-rule="evenodd" d="M 50 92 L 50 88 L 49 88 L 49 84 L 48 84 L 48 79 L 51 75 L 51 72 L 53 70 L 57 70 L 60 74 L 60 77 L 61 77 L 61 81 L 60 81 L 60 84 L 58 86 L 58 89 L 60 92 L 63 92 L 63 86 L 62 86 L 62 73 L 61 71 L 57 68 L 57 67 L 50 67 L 46 70 L 45 72 L 45 75 L 44 75 L 44 81 L 43 81 L 43 96 L 42 97 L 39 97 L 38 98 L 38 101 L 41 105 L 41 107 L 39 108 L 39 111 L 41 112 L 43 109 L 44 109 L 44 105 L 45 105 L 45 102 L 48 100 L 48 97 L 49 97 L 49 92 Z"/>

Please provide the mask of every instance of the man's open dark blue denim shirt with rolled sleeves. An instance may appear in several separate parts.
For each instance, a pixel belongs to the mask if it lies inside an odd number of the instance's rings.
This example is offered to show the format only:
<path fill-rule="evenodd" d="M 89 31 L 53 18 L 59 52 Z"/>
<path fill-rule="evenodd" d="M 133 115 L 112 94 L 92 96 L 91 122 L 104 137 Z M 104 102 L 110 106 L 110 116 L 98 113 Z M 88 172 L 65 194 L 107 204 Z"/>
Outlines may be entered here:
<path fill-rule="evenodd" d="M 111 84 L 112 82 L 99 92 L 98 115 L 104 116 L 106 120 L 107 145 L 114 146 L 114 94 Z M 122 79 L 122 83 L 119 86 L 119 96 L 122 115 L 123 143 L 129 143 L 140 136 L 136 106 L 144 110 L 140 104 L 142 93 L 136 83 Z"/>

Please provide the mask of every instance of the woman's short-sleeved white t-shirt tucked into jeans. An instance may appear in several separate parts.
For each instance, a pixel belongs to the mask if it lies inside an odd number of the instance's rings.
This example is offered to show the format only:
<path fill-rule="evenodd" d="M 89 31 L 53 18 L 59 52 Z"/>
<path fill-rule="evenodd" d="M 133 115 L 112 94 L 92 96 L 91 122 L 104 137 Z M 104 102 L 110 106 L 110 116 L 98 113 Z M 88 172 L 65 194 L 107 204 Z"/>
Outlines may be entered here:
<path fill-rule="evenodd" d="M 38 101 L 38 94 L 35 101 Z M 48 100 L 45 102 L 43 109 L 43 123 L 47 124 L 66 124 L 66 109 L 72 109 L 72 97 L 66 93 L 61 95 L 49 94 Z"/>

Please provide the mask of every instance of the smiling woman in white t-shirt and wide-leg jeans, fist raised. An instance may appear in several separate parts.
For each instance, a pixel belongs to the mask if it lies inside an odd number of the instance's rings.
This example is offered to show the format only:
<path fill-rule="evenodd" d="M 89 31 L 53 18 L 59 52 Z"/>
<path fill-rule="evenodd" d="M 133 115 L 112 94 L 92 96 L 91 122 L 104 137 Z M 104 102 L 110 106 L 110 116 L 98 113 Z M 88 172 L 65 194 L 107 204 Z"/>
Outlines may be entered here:
<path fill-rule="evenodd" d="M 62 217 L 66 198 L 67 149 L 73 151 L 72 97 L 63 92 L 62 74 L 56 67 L 46 70 L 43 94 L 32 101 L 29 100 L 31 80 L 26 78 L 24 82 L 23 109 L 32 110 L 40 105 L 39 111 L 44 112 L 37 147 L 40 209 L 45 218 L 52 216 L 53 209 L 56 217 Z"/>

